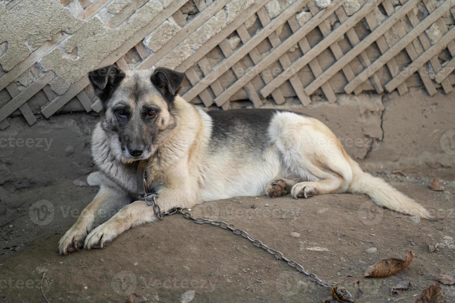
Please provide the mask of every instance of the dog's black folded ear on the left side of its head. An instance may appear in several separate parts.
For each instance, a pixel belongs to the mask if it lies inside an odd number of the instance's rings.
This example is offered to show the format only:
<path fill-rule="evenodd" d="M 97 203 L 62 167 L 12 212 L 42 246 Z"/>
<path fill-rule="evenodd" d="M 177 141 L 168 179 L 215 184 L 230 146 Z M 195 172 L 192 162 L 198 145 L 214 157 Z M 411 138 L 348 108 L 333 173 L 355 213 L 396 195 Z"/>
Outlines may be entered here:
<path fill-rule="evenodd" d="M 95 90 L 95 94 L 101 99 L 103 104 L 111 97 L 112 92 L 124 77 L 125 73 L 115 65 L 101 67 L 100 69 L 92 70 L 88 74 L 88 79 Z"/>

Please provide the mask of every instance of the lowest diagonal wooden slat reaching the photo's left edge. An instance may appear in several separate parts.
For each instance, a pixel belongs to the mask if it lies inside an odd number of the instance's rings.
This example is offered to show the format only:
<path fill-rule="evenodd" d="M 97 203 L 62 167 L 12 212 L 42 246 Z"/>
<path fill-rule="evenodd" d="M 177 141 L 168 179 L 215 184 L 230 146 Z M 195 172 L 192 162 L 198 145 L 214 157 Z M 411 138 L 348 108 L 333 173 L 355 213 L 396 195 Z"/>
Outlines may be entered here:
<path fill-rule="evenodd" d="M 51 82 L 54 79 L 55 75 L 53 72 L 47 72 L 42 75 L 40 78 L 36 79 L 35 82 L 30 84 L 26 89 L 21 91 L 18 95 L 16 95 L 13 99 L 8 101 L 0 109 L 0 121 L 6 119 L 10 114 L 12 114 L 16 109 L 19 108 L 20 105 L 27 102 L 28 99 L 33 97 L 36 93 L 38 93 L 45 85 Z"/>

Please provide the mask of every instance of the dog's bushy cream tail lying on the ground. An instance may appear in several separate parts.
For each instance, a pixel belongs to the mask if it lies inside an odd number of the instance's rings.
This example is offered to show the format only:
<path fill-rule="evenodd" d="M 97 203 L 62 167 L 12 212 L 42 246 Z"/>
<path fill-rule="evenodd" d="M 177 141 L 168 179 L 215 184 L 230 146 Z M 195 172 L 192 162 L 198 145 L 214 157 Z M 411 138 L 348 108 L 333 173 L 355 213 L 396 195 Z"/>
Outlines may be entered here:
<path fill-rule="evenodd" d="M 367 194 L 375 204 L 400 213 L 419 216 L 426 219 L 432 217 L 428 210 L 416 203 L 413 199 L 400 193 L 398 190 L 385 183 L 383 179 L 373 177 L 372 175 L 363 172 L 357 162 L 353 159 L 349 160 L 353 172 L 353 179 L 348 189 L 349 193 Z"/>

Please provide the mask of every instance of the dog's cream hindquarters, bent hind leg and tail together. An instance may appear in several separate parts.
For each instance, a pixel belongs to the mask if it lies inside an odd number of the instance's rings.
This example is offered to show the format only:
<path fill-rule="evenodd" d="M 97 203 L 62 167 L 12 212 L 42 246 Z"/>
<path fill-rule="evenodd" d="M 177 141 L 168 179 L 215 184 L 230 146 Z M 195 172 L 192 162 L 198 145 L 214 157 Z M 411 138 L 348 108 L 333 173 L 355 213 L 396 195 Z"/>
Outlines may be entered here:
<path fill-rule="evenodd" d="M 316 194 L 367 194 L 374 203 L 404 214 L 431 218 L 420 204 L 382 179 L 360 169 L 346 154 L 332 131 L 317 119 L 293 113 L 278 113 L 268 134 L 283 157 L 284 169 L 305 182 L 291 189 L 294 198 Z"/>

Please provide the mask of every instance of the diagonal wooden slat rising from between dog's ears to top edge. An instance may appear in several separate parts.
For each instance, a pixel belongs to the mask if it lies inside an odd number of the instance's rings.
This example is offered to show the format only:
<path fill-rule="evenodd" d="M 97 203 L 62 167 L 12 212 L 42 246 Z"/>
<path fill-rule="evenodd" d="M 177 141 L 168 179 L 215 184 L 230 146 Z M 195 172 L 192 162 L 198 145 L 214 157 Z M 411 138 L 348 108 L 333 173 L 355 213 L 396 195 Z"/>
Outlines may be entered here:
<path fill-rule="evenodd" d="M 201 26 L 205 21 L 210 19 L 218 10 L 221 10 L 229 0 L 217 0 L 203 10 L 197 17 L 192 19 L 187 25 L 185 25 L 182 30 L 180 30 L 176 35 L 172 37 L 171 40 L 167 41 L 165 45 L 160 47 L 155 53 L 153 53 L 146 60 L 142 61 L 141 64 L 137 66 L 138 70 L 148 70 L 151 68 L 158 60 L 161 60 L 168 52 L 173 50 L 177 45 L 180 44 L 185 38 L 191 35 L 199 26 Z"/>

